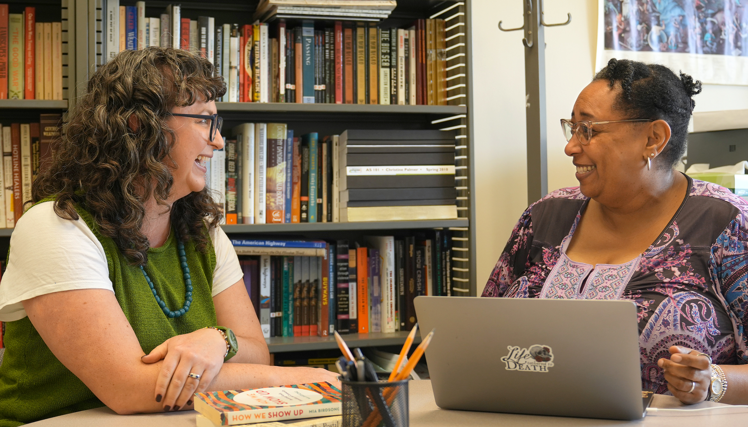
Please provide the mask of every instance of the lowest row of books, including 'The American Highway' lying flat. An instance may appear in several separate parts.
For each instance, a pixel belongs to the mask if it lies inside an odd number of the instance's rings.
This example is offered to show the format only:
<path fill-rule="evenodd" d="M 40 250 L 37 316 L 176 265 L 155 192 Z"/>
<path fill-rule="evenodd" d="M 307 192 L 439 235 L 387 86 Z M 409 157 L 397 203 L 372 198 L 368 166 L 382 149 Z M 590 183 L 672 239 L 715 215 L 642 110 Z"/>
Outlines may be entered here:
<path fill-rule="evenodd" d="M 232 239 L 264 336 L 409 331 L 418 295 L 469 295 L 452 280 L 453 236 Z"/>

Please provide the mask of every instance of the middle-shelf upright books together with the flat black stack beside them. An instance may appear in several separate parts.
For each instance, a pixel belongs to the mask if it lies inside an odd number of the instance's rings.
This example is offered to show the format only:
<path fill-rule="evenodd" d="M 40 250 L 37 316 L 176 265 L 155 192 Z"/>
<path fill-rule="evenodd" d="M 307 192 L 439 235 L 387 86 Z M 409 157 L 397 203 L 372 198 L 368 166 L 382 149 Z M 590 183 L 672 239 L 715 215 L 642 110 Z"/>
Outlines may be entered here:
<path fill-rule="evenodd" d="M 294 136 L 244 123 L 215 150 L 206 182 L 226 224 L 454 219 L 453 131 L 346 130 Z"/>

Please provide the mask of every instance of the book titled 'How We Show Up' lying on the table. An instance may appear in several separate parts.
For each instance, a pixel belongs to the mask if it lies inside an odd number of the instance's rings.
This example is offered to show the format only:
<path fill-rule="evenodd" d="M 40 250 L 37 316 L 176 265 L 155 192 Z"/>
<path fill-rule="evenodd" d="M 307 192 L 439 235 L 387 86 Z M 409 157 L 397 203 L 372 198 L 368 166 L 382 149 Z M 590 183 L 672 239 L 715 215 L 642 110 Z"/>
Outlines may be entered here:
<path fill-rule="evenodd" d="M 341 414 L 341 394 L 328 382 L 195 393 L 194 409 L 216 426 Z"/>

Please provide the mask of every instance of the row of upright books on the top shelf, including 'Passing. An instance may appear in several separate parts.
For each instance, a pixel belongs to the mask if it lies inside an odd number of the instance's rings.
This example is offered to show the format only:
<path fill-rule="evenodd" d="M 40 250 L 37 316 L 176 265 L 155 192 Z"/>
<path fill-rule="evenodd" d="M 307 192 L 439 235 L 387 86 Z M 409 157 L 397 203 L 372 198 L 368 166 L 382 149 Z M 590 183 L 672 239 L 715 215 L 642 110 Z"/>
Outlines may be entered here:
<path fill-rule="evenodd" d="M 311 19 L 290 28 L 285 19 L 216 25 L 183 18 L 179 5 L 147 17 L 144 1 L 118 4 L 107 2 L 106 58 L 148 46 L 200 52 L 224 76 L 224 102 L 465 104 L 465 43 L 451 43 L 465 34 L 464 14 L 408 28 Z"/>

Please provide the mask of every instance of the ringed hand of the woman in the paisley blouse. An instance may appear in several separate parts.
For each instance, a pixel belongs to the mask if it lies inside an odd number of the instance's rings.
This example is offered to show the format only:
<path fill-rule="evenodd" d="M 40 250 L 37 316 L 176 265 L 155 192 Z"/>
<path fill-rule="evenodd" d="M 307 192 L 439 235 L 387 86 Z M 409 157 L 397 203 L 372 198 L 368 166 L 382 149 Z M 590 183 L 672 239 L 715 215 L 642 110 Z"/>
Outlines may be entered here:
<path fill-rule="evenodd" d="M 657 360 L 665 374 L 667 390 L 683 403 L 704 402 L 711 381 L 711 360 L 691 348 L 672 345 L 668 350 L 669 360 Z"/>

